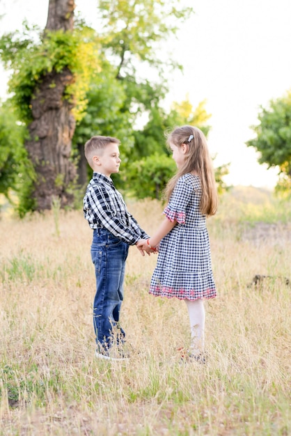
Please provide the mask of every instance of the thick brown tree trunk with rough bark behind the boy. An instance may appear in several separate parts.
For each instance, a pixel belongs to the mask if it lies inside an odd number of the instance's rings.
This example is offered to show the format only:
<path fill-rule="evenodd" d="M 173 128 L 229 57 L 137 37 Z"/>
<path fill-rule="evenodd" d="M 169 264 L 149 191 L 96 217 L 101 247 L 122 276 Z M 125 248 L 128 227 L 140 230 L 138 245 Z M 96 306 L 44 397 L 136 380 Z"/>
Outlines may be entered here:
<path fill-rule="evenodd" d="M 74 0 L 49 0 L 45 30 L 73 29 Z M 70 185 L 76 169 L 70 161 L 74 118 L 72 99 L 64 98 L 65 88 L 74 77 L 68 68 L 62 72 L 48 72 L 42 77 L 31 99 L 33 121 L 29 125 L 30 139 L 26 149 L 36 171 L 33 198 L 36 210 L 52 208 L 55 198 L 61 207 L 72 205 Z M 69 189 L 68 189 L 69 188 Z"/>

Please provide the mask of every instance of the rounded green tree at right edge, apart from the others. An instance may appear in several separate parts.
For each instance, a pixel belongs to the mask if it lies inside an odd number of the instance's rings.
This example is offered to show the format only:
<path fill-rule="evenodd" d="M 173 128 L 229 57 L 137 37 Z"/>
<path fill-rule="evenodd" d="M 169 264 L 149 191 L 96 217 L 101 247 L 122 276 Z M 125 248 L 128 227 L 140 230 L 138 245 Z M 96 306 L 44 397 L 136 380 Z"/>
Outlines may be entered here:
<path fill-rule="evenodd" d="M 290 188 L 291 182 L 291 91 L 260 108 L 259 125 L 253 126 L 255 139 L 246 143 L 260 152 L 258 162 L 278 166 L 281 179 L 278 190 Z"/>

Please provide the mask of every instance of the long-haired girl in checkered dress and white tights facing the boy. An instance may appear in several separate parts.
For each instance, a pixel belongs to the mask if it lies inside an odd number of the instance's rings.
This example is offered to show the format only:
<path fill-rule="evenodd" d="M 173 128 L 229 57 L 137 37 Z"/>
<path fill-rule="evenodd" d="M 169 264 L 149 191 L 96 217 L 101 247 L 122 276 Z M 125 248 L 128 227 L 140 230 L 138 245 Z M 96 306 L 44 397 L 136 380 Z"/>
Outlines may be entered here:
<path fill-rule="evenodd" d="M 137 247 L 159 246 L 150 294 L 184 299 L 191 328 L 187 358 L 204 362 L 203 299 L 217 295 L 205 226 L 206 217 L 217 211 L 214 171 L 205 136 L 198 128 L 177 127 L 167 142 L 178 171 L 166 186 L 165 219 L 157 232 L 148 240 L 140 240 Z"/>

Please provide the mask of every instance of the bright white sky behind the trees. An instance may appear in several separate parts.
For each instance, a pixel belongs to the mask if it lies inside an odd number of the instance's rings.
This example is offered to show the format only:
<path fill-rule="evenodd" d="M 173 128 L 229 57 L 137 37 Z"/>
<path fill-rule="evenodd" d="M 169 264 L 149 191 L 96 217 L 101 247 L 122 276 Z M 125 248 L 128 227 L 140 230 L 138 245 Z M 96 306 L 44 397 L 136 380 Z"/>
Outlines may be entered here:
<path fill-rule="evenodd" d="M 97 22 L 94 0 L 75 0 L 89 24 Z M 168 104 L 184 100 L 194 107 L 206 99 L 212 114 L 208 143 L 215 166 L 231 162 L 226 178 L 233 185 L 274 187 L 276 170 L 259 165 L 253 137 L 260 105 L 291 88 L 290 0 L 184 0 L 196 14 L 171 41 L 171 58 L 184 73 L 171 78 Z M 0 33 L 21 29 L 24 17 L 44 27 L 48 0 L 0 0 Z M 17 13 L 15 13 L 15 11 Z M 0 68 L 0 96 L 7 74 Z"/>

